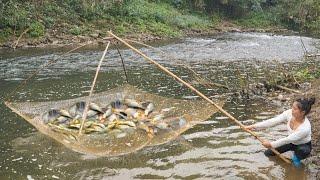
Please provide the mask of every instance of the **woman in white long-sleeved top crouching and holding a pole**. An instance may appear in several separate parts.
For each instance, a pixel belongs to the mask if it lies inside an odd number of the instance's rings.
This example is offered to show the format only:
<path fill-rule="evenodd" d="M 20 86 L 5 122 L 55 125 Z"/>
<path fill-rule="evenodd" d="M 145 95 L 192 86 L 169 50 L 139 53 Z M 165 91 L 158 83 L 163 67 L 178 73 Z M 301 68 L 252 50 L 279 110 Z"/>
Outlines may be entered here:
<path fill-rule="evenodd" d="M 262 145 L 266 148 L 275 148 L 279 153 L 294 151 L 292 162 L 296 167 L 300 167 L 300 160 L 307 158 L 311 152 L 311 125 L 306 115 L 310 112 L 314 102 L 314 98 L 297 99 L 293 103 L 292 109 L 269 120 L 246 126 L 246 128 L 255 130 L 287 122 L 289 136 L 273 142 L 264 141 Z M 264 154 L 266 156 L 275 155 L 270 149 L 266 150 Z"/>

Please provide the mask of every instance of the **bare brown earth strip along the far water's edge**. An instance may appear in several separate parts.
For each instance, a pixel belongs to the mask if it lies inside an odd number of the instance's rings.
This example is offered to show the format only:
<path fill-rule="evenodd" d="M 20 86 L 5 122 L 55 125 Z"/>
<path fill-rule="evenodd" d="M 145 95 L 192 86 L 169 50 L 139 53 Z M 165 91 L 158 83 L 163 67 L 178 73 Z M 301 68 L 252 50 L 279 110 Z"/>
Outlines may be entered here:
<path fill-rule="evenodd" d="M 94 33 L 86 35 L 71 35 L 66 34 L 63 31 L 51 30 L 44 36 L 38 38 L 27 38 L 23 35 L 21 37 L 11 37 L 6 42 L 0 43 L 0 48 L 7 49 L 19 49 L 19 48 L 44 48 L 44 47 L 64 47 L 64 46 L 77 46 L 85 43 L 91 45 L 106 44 L 110 40 L 110 36 L 107 33 L 108 30 L 95 30 Z M 152 33 L 127 33 L 120 34 L 120 37 L 126 39 L 132 39 L 140 42 L 155 42 L 159 40 L 169 40 L 175 38 L 184 38 L 190 36 L 206 36 L 216 35 L 226 32 L 261 32 L 261 33 L 277 33 L 277 34 L 296 34 L 295 32 L 285 28 L 245 28 L 236 25 L 232 22 L 224 21 L 214 28 L 206 29 L 188 29 L 183 30 L 181 35 L 178 36 L 159 36 Z M 112 41 L 112 40 L 111 40 Z"/>

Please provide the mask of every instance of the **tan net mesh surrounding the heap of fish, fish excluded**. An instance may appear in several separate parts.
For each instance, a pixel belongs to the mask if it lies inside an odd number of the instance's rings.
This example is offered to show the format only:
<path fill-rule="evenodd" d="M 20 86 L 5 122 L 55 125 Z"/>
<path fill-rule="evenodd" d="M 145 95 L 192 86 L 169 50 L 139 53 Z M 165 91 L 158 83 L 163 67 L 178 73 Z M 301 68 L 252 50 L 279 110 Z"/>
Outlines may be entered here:
<path fill-rule="evenodd" d="M 145 146 L 166 143 L 179 136 L 198 122 L 204 121 L 218 110 L 203 100 L 182 100 L 166 98 L 139 90 L 131 85 L 125 85 L 105 92 L 94 94 L 90 101 L 107 105 L 121 96 L 154 103 L 155 111 L 167 109 L 164 121 L 170 122 L 171 127 L 159 130 L 150 136 L 143 129 L 135 129 L 123 136 L 110 133 L 93 133 L 79 135 L 78 130 L 53 128 L 42 120 L 42 114 L 49 109 L 67 109 L 87 97 L 48 102 L 6 102 L 6 105 L 20 115 L 41 133 L 62 143 L 73 151 L 97 156 L 115 156 L 137 151 Z M 223 101 L 218 102 L 220 106 Z M 185 124 L 179 124 L 183 118 Z"/>

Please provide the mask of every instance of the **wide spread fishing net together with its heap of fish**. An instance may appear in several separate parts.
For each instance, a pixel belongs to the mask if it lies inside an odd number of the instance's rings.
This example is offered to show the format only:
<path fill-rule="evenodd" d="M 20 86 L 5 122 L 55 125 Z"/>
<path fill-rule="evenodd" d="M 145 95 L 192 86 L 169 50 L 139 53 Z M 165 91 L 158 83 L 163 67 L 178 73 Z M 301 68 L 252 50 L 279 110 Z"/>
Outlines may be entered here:
<path fill-rule="evenodd" d="M 86 98 L 6 105 L 67 148 L 96 156 L 128 154 L 167 143 L 218 111 L 203 100 L 167 98 L 125 85 L 91 96 L 84 134 L 79 135 Z M 140 107 L 136 102 L 145 104 Z M 126 108 L 121 110 L 121 106 Z M 129 117 L 130 112 L 134 113 Z"/>

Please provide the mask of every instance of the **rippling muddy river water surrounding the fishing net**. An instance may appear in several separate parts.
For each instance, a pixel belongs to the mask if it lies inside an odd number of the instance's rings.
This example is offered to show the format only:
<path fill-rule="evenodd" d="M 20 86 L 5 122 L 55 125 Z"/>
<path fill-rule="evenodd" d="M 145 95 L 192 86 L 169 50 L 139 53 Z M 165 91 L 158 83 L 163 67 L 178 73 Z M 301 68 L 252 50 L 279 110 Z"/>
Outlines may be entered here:
<path fill-rule="evenodd" d="M 309 52 L 319 52 L 319 40 L 302 38 Z M 158 45 L 158 49 L 192 67 L 203 77 L 232 90 L 206 87 L 192 73 L 155 51 L 146 54 L 191 82 L 212 98 L 224 98 L 224 109 L 246 124 L 273 117 L 283 109 L 258 96 L 234 96 L 239 77 L 261 82 L 268 72 L 279 73 L 279 63 L 290 71 L 304 66 L 300 37 L 270 34 L 222 34 L 216 37 L 187 38 Z M 44 63 L 58 58 L 63 50 L 21 50 L 0 52 L 1 97 Z M 128 70 L 128 82 L 145 91 L 166 97 L 199 99 L 132 52 L 121 49 Z M 68 54 L 50 68 L 44 68 L 9 98 L 16 101 L 49 101 L 87 95 L 101 48 Z M 126 83 L 117 51 L 107 54 L 96 91 Z M 307 179 L 304 168 L 295 169 L 278 158 L 267 158 L 264 148 L 223 114 L 189 129 L 175 141 L 147 147 L 118 157 L 94 157 L 73 152 L 46 137 L 0 104 L 0 179 Z M 258 133 L 266 139 L 286 135 L 285 126 Z M 290 154 L 289 154 L 290 155 Z"/>

